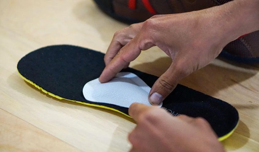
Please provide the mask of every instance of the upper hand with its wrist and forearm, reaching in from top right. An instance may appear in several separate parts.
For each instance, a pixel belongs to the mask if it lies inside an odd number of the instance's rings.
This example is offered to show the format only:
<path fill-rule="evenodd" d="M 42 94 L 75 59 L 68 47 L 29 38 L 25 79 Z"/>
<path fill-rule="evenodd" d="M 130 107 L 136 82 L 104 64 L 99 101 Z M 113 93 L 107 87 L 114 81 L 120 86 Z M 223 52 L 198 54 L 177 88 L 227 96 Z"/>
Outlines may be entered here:
<path fill-rule="evenodd" d="M 200 11 L 157 15 L 119 30 L 105 54 L 106 67 L 99 81 L 111 80 L 135 60 L 141 50 L 158 46 L 172 58 L 171 66 L 149 93 L 149 102 L 159 105 L 181 79 L 209 64 L 227 43 L 259 27 L 255 4 L 259 4 L 258 1 L 236 0 Z M 244 15 L 252 13 L 252 17 Z"/>

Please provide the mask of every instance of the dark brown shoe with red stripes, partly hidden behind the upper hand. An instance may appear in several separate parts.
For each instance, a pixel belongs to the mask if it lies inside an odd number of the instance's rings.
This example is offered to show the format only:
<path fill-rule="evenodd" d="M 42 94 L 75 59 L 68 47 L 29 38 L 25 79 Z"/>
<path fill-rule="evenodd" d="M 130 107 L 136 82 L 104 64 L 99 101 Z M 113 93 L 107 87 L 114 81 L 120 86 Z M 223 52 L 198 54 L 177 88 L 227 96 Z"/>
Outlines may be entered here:
<path fill-rule="evenodd" d="M 232 0 L 94 0 L 109 16 L 127 23 L 143 22 L 156 14 L 190 12 Z M 238 62 L 259 62 L 259 31 L 230 42 L 220 54 Z"/>

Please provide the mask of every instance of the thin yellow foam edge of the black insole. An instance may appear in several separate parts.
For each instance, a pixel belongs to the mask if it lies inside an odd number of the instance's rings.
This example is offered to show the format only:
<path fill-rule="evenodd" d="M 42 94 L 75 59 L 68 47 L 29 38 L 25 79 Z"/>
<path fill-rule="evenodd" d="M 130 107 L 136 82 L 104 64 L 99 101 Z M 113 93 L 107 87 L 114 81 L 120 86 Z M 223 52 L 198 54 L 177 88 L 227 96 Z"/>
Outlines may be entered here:
<path fill-rule="evenodd" d="M 84 105 L 90 105 L 90 106 L 94 106 L 94 107 L 99 107 L 99 108 L 104 108 L 104 109 L 113 110 L 113 111 L 122 113 L 123 115 L 132 118 L 130 115 L 127 115 L 126 113 L 123 113 L 123 112 L 121 112 L 121 111 L 119 111 L 119 110 L 117 110 L 117 109 L 110 108 L 110 107 L 107 107 L 107 106 L 104 106 L 104 105 L 95 105 L 95 104 L 91 104 L 91 103 L 86 103 L 86 102 L 81 102 L 81 101 L 76 101 L 76 100 L 70 100 L 70 99 L 62 98 L 62 97 L 60 97 L 60 96 L 58 96 L 58 95 L 54 95 L 53 93 L 44 90 L 43 88 L 41 88 L 40 86 L 38 86 L 38 85 L 35 84 L 34 82 L 32 82 L 32 81 L 30 81 L 29 79 L 25 78 L 22 74 L 20 74 L 20 72 L 19 72 L 18 69 L 17 69 L 17 71 L 18 71 L 18 74 L 23 78 L 23 80 L 29 82 L 30 84 L 34 85 L 36 88 L 40 89 L 41 91 L 43 91 L 43 92 L 46 93 L 46 94 L 51 95 L 52 97 L 55 97 L 55 98 L 58 98 L 58 99 L 65 99 L 65 100 L 69 100 L 69 101 L 73 101 L 73 102 L 78 102 L 78 103 L 81 103 L 81 104 L 84 104 Z M 239 122 L 238 122 L 238 123 L 239 123 Z M 231 130 L 229 133 L 227 133 L 227 134 L 224 135 L 224 136 L 218 137 L 218 140 L 219 140 L 219 141 L 225 140 L 225 139 L 227 139 L 230 135 L 232 135 L 232 133 L 236 130 L 236 127 L 238 126 L 238 123 L 236 124 L 235 128 L 234 128 L 233 130 Z"/>

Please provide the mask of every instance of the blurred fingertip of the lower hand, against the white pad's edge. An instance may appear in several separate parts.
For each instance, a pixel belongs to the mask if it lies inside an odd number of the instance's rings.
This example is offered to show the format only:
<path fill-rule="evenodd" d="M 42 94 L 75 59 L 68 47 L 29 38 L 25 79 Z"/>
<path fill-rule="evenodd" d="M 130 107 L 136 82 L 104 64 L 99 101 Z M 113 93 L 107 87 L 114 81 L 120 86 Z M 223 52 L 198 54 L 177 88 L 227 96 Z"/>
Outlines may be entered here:
<path fill-rule="evenodd" d="M 141 103 L 132 103 L 129 108 L 129 115 L 138 122 L 141 113 L 146 112 L 147 110 L 151 109 L 152 106 L 147 106 Z"/>

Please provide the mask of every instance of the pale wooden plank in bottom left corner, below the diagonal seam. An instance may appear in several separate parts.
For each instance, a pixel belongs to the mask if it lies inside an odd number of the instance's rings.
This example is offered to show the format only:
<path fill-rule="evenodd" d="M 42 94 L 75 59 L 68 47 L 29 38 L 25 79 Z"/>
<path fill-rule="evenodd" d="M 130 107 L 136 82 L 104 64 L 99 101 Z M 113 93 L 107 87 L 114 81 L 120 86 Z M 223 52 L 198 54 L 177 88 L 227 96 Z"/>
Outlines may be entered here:
<path fill-rule="evenodd" d="M 80 151 L 0 109 L 0 151 Z"/>

